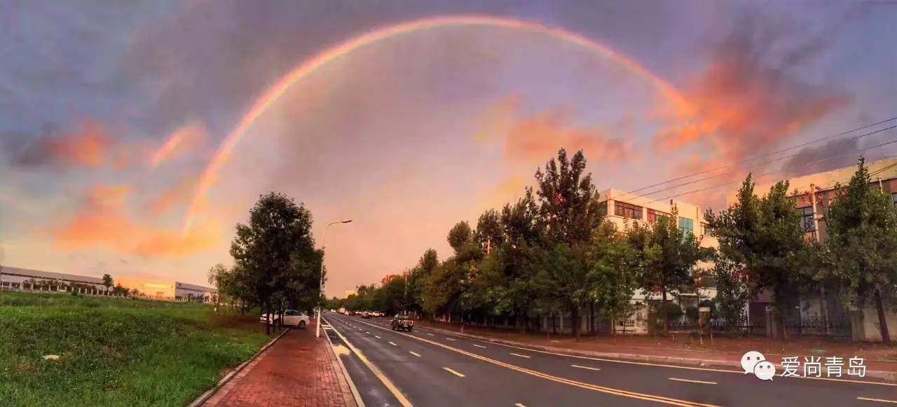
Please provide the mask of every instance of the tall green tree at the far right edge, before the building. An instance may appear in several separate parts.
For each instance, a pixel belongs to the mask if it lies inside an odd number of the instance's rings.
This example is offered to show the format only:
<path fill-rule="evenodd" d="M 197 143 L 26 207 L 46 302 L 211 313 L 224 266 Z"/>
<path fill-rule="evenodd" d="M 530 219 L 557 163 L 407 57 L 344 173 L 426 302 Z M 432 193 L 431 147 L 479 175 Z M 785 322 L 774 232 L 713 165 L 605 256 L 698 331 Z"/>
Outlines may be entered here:
<path fill-rule="evenodd" d="M 834 277 L 849 287 L 859 307 L 872 303 L 882 342 L 891 343 L 885 317 L 887 299 L 897 295 L 897 211 L 877 186 L 860 158 L 857 172 L 837 194 L 826 214 Z"/>

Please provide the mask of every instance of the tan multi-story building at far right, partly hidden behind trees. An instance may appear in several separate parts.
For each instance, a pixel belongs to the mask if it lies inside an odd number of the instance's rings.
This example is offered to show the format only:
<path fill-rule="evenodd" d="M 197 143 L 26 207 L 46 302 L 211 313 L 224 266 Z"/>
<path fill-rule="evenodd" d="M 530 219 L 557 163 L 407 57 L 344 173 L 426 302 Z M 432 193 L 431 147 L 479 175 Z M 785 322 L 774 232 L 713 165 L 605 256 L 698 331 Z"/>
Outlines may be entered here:
<path fill-rule="evenodd" d="M 878 160 L 867 163 L 869 173 L 873 175 L 870 187 L 881 188 L 886 194 L 891 195 L 892 202 L 897 207 L 897 158 Z M 794 191 L 792 195 L 797 212 L 800 213 L 800 227 L 804 230 L 807 240 L 824 242 L 828 237 L 825 225 L 825 213 L 832 204 L 838 191 L 838 184 L 846 185 L 857 171 L 857 167 L 845 167 L 819 172 L 803 177 L 788 179 L 788 189 Z M 767 194 L 773 182 L 757 184 L 754 193 Z M 736 199 L 736 191 L 729 193 L 727 204 Z M 877 324 L 878 316 L 873 307 L 864 309 L 847 309 L 838 299 L 826 296 L 824 292 L 818 295 L 808 295 L 801 299 L 799 316 L 797 311 L 790 318 L 789 329 L 799 329 L 803 333 L 817 333 L 829 335 L 850 335 L 857 341 L 880 341 Z M 766 306 L 771 303 L 771 293 L 761 292 L 749 306 L 748 313 L 752 318 L 762 316 Z M 887 316 L 889 326 L 897 326 L 897 313 L 889 313 Z M 768 328 L 771 328 L 767 325 Z M 768 333 L 770 329 L 767 329 Z M 892 329 L 892 339 L 897 339 L 897 329 Z"/>

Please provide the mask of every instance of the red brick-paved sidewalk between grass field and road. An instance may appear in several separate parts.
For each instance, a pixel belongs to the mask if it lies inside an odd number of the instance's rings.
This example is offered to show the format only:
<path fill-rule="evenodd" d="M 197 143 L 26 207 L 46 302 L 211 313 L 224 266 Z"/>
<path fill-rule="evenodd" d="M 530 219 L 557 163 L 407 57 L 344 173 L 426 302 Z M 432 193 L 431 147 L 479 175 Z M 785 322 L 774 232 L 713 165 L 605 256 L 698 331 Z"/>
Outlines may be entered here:
<path fill-rule="evenodd" d="M 356 407 L 352 390 L 314 322 L 274 342 L 204 404 L 222 406 Z"/>

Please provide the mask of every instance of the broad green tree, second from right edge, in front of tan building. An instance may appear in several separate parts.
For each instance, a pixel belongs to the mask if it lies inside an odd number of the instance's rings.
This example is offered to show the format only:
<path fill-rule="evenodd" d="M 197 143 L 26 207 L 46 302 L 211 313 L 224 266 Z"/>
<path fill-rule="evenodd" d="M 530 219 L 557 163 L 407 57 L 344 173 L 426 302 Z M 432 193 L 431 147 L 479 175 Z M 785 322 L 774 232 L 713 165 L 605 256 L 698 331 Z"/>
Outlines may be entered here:
<path fill-rule="evenodd" d="M 794 309 L 799 290 L 806 281 L 799 271 L 799 258 L 806 250 L 800 215 L 788 196 L 788 181 L 771 186 L 770 192 L 757 197 L 749 174 L 726 211 L 704 215 L 710 235 L 719 241 L 723 261 L 746 271 L 752 295 L 763 289 L 774 293 L 775 319 L 783 338 L 787 338 L 785 312 Z"/>

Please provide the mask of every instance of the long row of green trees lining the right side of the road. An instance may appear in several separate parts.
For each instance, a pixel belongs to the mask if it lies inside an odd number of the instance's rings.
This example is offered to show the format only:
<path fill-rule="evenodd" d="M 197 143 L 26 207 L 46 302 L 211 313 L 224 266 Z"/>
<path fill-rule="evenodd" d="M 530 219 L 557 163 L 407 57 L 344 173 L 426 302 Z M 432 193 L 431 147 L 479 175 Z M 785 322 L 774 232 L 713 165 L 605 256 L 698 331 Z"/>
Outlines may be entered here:
<path fill-rule="evenodd" d="M 824 244 L 805 238 L 787 182 L 758 196 L 748 176 L 734 204 L 705 213 L 718 251 L 679 227 L 675 207 L 654 222 L 617 229 L 585 169 L 582 152 L 569 158 L 561 150 L 517 202 L 483 212 L 475 228 L 460 221 L 450 229 L 447 258 L 429 249 L 410 271 L 328 306 L 462 322 L 503 318 L 521 330 L 533 329 L 541 316 L 568 315 L 579 337 L 580 312 L 587 310 L 592 330 L 596 313 L 613 326 L 642 305 L 632 301 L 637 290 L 658 299 L 652 302 L 666 332 L 670 293 L 715 284 L 714 312 L 733 330 L 745 322 L 746 302 L 762 291 L 772 294 L 782 334 L 783 311 L 801 295 L 823 292 L 858 307 L 871 300 L 888 341 L 884 312 L 897 296 L 897 211 L 870 187 L 862 160 L 824 214 Z M 701 270 L 704 261 L 714 265 Z"/>

